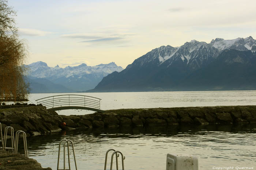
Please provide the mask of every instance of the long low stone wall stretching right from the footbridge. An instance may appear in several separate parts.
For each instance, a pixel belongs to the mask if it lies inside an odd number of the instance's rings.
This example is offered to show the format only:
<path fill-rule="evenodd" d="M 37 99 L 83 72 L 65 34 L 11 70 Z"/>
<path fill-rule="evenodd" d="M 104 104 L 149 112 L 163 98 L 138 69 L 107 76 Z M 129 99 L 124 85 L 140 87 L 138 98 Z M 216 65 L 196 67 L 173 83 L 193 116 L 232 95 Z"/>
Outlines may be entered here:
<path fill-rule="evenodd" d="M 232 123 L 242 125 L 256 123 L 256 106 L 118 109 L 82 116 L 61 116 L 63 122 L 72 128 Z"/>

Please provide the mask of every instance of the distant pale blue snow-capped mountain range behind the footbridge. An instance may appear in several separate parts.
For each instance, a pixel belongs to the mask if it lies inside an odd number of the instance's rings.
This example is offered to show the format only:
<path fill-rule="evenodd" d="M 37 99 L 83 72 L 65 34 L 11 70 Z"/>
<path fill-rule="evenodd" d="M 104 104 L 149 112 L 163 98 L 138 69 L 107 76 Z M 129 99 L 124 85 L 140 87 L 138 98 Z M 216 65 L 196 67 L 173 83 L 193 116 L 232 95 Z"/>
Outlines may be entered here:
<path fill-rule="evenodd" d="M 113 71 L 120 72 L 122 67 L 114 62 L 87 66 L 80 64 L 75 67 L 48 67 L 44 62 L 25 65 L 31 93 L 78 92 L 94 88 L 104 76 Z"/>

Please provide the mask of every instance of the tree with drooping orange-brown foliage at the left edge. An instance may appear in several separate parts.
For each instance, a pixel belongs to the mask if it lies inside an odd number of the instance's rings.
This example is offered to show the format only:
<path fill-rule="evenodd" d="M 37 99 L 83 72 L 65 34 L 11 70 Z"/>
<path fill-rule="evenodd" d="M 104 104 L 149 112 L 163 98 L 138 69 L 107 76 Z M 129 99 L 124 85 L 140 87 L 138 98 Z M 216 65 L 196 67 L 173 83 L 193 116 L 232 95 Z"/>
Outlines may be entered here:
<path fill-rule="evenodd" d="M 8 1 L 0 0 L 0 99 L 5 101 L 25 99 L 28 94 L 23 67 L 27 51 L 18 39 L 15 15 Z"/>

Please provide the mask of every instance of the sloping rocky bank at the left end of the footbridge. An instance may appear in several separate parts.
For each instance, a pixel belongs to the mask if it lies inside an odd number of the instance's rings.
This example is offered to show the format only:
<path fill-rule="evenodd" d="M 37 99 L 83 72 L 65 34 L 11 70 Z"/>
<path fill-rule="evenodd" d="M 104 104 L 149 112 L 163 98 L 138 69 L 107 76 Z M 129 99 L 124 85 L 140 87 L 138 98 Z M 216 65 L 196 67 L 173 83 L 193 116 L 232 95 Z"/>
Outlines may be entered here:
<path fill-rule="evenodd" d="M 14 131 L 25 131 L 27 137 L 61 131 L 62 117 L 44 106 L 0 109 L 2 129 L 11 126 Z"/>

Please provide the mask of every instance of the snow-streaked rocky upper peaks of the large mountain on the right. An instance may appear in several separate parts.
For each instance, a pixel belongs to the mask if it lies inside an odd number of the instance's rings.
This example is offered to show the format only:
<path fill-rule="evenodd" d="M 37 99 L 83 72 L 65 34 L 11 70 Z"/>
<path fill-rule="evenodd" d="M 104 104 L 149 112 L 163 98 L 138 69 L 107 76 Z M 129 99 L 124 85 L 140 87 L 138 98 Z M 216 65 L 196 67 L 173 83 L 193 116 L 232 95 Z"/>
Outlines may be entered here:
<path fill-rule="evenodd" d="M 188 67 L 192 69 L 201 68 L 209 60 L 211 61 L 223 51 L 223 50 L 256 50 L 256 40 L 251 36 L 247 38 L 237 38 L 234 40 L 224 40 L 222 38 L 213 39 L 211 43 L 199 42 L 197 40 L 191 40 L 186 42 L 180 47 L 172 46 L 161 46 L 151 50 L 147 54 L 136 59 L 133 64 L 136 62 L 140 63 L 140 66 L 144 64 L 154 62 L 155 64 L 168 63 L 169 67 L 173 62 L 177 60 L 182 60 Z M 129 66 L 131 67 L 131 66 Z M 128 68 L 129 68 L 128 67 Z"/>

